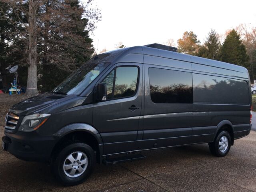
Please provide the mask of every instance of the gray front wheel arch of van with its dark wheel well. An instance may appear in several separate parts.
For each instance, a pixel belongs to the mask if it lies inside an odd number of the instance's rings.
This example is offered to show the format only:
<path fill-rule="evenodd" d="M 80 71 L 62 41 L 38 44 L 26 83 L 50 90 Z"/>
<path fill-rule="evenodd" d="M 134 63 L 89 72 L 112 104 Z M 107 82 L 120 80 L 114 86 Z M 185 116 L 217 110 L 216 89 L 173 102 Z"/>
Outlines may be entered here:
<path fill-rule="evenodd" d="M 102 162 L 103 154 L 103 142 L 99 132 L 89 124 L 74 123 L 61 128 L 54 134 L 57 138 L 56 144 L 51 153 L 51 157 L 57 152 L 57 150 L 69 141 L 79 140 L 90 145 L 95 151 L 97 156 L 97 162 Z"/>

